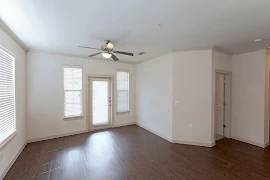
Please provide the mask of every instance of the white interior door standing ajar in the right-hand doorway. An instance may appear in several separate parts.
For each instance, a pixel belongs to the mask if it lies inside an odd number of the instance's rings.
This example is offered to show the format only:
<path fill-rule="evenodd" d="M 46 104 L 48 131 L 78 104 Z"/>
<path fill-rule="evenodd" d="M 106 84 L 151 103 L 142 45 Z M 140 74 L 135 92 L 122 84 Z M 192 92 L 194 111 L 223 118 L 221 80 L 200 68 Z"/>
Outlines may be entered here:
<path fill-rule="evenodd" d="M 215 133 L 223 136 L 224 125 L 224 74 L 216 74 L 215 90 Z"/>

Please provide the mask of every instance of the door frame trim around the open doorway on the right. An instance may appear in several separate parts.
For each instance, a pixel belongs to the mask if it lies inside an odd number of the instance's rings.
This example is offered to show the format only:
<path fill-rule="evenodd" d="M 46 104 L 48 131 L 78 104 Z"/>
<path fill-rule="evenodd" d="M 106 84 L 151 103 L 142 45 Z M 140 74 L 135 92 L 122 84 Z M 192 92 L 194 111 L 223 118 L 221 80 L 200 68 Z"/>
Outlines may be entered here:
<path fill-rule="evenodd" d="M 229 137 L 232 137 L 232 71 L 226 71 L 226 70 L 220 70 L 220 69 L 214 69 L 213 72 L 214 76 L 213 76 L 213 81 L 212 81 L 212 143 L 216 142 L 216 138 L 215 138 L 215 100 L 216 100 L 216 96 L 215 96 L 215 92 L 216 92 L 216 74 L 224 74 L 224 75 L 228 75 L 230 78 L 230 116 L 229 116 L 229 121 L 230 121 L 230 134 Z"/>

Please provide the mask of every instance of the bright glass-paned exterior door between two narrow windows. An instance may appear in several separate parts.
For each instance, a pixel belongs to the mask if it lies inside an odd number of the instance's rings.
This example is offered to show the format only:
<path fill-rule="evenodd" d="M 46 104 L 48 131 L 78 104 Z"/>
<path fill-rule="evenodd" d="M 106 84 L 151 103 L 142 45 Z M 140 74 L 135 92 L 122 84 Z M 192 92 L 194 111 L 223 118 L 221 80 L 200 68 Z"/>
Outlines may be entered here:
<path fill-rule="evenodd" d="M 92 79 L 92 127 L 111 124 L 111 83 L 109 79 Z"/>

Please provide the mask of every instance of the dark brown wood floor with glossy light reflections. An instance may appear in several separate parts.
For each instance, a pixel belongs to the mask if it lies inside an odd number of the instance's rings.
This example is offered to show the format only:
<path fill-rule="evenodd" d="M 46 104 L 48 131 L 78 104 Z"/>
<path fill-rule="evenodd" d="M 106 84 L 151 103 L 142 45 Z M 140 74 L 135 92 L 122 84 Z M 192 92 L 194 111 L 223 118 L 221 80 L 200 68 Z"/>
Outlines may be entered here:
<path fill-rule="evenodd" d="M 270 148 L 171 144 L 134 125 L 28 144 L 4 179 L 270 179 Z"/>

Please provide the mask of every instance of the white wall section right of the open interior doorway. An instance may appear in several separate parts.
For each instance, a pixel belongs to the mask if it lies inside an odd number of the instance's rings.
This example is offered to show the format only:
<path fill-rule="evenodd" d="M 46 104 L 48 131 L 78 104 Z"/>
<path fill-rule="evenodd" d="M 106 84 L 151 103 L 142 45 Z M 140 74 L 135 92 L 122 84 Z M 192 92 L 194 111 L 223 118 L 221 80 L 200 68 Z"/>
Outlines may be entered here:
<path fill-rule="evenodd" d="M 232 137 L 264 145 L 266 51 L 232 57 Z"/>

